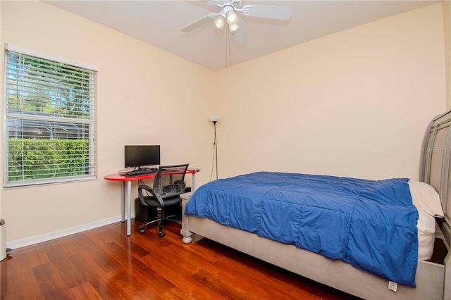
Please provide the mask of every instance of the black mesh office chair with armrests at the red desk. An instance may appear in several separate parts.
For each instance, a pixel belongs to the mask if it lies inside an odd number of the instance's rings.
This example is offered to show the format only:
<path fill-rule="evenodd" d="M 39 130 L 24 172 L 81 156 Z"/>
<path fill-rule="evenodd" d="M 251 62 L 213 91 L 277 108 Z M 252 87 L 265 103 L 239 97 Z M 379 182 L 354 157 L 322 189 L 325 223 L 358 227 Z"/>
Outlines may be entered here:
<path fill-rule="evenodd" d="M 182 199 L 180 194 L 185 192 L 185 174 L 188 163 L 184 165 L 160 165 L 156 170 L 153 187 L 148 185 L 138 186 L 138 195 L 144 206 L 157 208 L 157 216 L 154 220 L 140 226 L 140 233 L 144 233 L 144 227 L 158 223 L 158 233 L 164 237 L 163 223 L 173 221 L 181 224 L 177 215 L 166 215 L 168 206 L 180 206 Z"/>

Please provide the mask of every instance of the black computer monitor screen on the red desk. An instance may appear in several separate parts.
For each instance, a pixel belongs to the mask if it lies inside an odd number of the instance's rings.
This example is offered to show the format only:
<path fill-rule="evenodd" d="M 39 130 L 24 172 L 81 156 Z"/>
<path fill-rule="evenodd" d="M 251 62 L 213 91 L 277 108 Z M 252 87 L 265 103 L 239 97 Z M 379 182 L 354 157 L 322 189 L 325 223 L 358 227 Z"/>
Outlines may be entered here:
<path fill-rule="evenodd" d="M 160 145 L 125 146 L 125 168 L 160 164 Z"/>

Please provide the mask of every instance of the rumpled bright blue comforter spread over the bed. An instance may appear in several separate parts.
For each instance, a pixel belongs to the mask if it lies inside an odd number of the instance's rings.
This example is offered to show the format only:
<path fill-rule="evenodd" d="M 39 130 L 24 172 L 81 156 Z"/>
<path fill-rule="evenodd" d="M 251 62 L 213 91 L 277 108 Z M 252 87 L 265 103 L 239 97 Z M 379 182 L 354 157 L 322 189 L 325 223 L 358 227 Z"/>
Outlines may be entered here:
<path fill-rule="evenodd" d="M 418 212 L 407 181 L 252 173 L 199 187 L 185 213 L 415 287 Z"/>

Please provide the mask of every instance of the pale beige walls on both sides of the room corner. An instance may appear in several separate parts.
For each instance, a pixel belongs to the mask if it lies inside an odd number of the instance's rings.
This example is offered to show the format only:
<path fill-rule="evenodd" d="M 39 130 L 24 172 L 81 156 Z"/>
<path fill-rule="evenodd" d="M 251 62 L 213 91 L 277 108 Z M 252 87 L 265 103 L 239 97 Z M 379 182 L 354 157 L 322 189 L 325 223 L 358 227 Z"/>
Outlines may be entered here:
<path fill-rule="evenodd" d="M 2 48 L 99 67 L 99 180 L 2 189 L 9 242 L 117 217 L 121 189 L 102 177 L 123 168 L 124 144 L 159 143 L 163 163 L 188 161 L 207 182 L 213 113 L 221 115 L 220 177 L 275 170 L 416 179 L 424 129 L 445 110 L 442 4 L 218 72 L 42 2 L 0 5 Z"/>

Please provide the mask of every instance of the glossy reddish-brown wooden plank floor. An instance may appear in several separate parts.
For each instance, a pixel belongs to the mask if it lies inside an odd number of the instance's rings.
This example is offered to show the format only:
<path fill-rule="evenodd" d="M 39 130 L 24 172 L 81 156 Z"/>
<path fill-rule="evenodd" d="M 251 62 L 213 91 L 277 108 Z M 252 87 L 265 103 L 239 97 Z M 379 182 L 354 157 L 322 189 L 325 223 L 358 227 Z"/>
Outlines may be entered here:
<path fill-rule="evenodd" d="M 353 299 L 207 239 L 183 244 L 176 223 L 163 238 L 134 225 L 13 249 L 0 299 Z"/>

